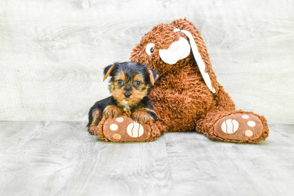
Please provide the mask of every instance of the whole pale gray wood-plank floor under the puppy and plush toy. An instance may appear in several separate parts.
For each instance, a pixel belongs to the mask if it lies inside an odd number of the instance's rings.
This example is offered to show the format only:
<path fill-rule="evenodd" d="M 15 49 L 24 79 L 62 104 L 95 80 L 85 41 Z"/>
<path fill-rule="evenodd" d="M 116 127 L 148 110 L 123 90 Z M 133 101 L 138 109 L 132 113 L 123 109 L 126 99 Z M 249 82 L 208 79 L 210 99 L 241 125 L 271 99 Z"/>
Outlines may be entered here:
<path fill-rule="evenodd" d="M 235 144 L 196 132 L 106 143 L 85 122 L 0 122 L 0 195 L 293 195 L 294 125 Z"/>

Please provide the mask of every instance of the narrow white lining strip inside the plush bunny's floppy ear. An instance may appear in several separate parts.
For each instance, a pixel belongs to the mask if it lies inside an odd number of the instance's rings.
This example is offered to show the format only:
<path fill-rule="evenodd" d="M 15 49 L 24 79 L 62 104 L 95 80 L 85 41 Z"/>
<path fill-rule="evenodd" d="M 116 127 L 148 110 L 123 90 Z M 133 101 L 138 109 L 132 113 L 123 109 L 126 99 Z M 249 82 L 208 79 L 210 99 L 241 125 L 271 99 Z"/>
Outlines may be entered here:
<path fill-rule="evenodd" d="M 190 32 L 188 32 L 188 31 L 185 31 L 185 30 L 182 30 L 181 32 L 183 32 L 190 40 L 190 45 L 191 45 L 191 48 L 192 48 L 194 58 L 195 58 L 195 60 L 197 62 L 197 65 L 199 67 L 200 73 L 201 73 L 201 75 L 202 75 L 202 77 L 204 79 L 204 82 L 205 82 L 206 86 L 208 87 L 208 89 L 212 93 L 215 93 L 215 89 L 212 88 L 212 86 L 211 86 L 211 80 L 210 80 L 209 74 L 205 73 L 205 63 L 203 62 L 203 60 L 201 58 L 201 55 L 198 52 L 198 48 L 197 48 L 196 42 L 195 42 L 192 34 Z"/>

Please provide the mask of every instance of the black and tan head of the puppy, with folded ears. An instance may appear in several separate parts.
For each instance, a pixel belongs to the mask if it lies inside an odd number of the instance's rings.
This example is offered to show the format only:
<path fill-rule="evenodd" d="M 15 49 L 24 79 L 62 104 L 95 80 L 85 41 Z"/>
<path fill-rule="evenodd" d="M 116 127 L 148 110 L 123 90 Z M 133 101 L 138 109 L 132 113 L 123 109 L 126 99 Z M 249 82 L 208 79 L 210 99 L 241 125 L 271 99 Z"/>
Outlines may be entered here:
<path fill-rule="evenodd" d="M 120 106 L 138 104 L 151 92 L 158 79 L 156 71 L 136 62 L 114 63 L 104 68 L 104 80 L 111 76 L 109 90 Z M 103 81 L 104 81 L 103 80 Z"/>

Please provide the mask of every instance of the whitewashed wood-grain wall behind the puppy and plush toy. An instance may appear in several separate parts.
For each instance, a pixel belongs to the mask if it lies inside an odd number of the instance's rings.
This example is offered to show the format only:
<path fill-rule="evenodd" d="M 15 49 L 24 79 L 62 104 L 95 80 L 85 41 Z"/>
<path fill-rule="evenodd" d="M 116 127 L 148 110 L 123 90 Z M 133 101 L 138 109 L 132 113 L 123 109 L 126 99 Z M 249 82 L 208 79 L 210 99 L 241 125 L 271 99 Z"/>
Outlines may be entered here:
<path fill-rule="evenodd" d="M 237 109 L 294 123 L 293 9 L 290 0 L 1 0 L 0 120 L 86 121 L 110 95 L 103 68 L 128 61 L 156 24 L 187 17 Z"/>

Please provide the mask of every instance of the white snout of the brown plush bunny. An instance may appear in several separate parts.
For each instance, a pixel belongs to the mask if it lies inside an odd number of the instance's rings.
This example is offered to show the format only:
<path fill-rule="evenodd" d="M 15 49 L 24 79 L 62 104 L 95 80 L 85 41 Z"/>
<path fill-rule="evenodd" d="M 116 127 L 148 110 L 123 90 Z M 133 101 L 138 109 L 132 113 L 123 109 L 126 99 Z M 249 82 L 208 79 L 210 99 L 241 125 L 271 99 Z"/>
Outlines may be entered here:
<path fill-rule="evenodd" d="M 190 50 L 189 42 L 181 37 L 178 41 L 171 44 L 167 50 L 159 50 L 159 56 L 163 62 L 173 65 L 189 56 Z"/>

